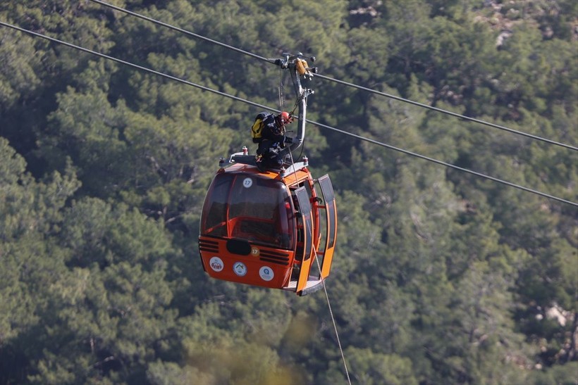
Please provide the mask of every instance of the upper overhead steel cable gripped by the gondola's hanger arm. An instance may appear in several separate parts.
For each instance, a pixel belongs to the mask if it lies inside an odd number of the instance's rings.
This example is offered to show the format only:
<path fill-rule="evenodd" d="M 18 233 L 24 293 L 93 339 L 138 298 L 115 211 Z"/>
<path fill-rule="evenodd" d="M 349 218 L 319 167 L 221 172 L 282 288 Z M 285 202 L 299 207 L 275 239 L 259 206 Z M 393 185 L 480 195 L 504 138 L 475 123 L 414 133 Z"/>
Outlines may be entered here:
<path fill-rule="evenodd" d="M 175 31 L 177 31 L 177 32 L 182 32 L 182 33 L 184 33 L 184 34 L 187 34 L 187 35 L 190 36 L 190 37 L 195 37 L 195 38 L 197 38 L 197 39 L 202 39 L 202 40 L 204 40 L 204 41 L 206 41 L 206 42 L 210 42 L 210 43 L 212 43 L 212 44 L 217 44 L 217 45 L 222 46 L 222 47 L 224 47 L 224 48 L 226 48 L 226 49 L 231 49 L 231 50 L 233 50 L 233 51 L 236 51 L 236 52 L 239 52 L 239 53 L 243 53 L 243 54 L 245 54 L 245 55 L 247 55 L 247 56 L 251 56 L 252 58 L 257 58 L 258 60 L 261 60 L 261 61 L 267 61 L 267 62 L 269 62 L 269 63 L 274 63 L 274 59 L 264 58 L 263 56 L 259 56 L 259 55 L 255 54 L 255 53 L 252 53 L 252 52 L 249 52 L 249 51 L 244 51 L 244 50 L 242 50 L 242 49 L 238 49 L 238 48 L 235 47 L 235 46 L 231 46 L 231 45 L 229 45 L 229 44 L 225 44 L 225 43 L 222 43 L 222 42 L 218 42 L 218 41 L 216 41 L 216 40 L 214 40 L 214 39 L 209 39 L 208 37 L 204 37 L 204 36 L 202 36 L 202 35 L 200 35 L 200 34 L 196 34 L 196 33 L 193 33 L 193 32 L 187 31 L 187 30 L 183 30 L 183 29 L 180 28 L 180 27 L 176 27 L 176 26 L 170 25 L 170 24 L 168 24 L 168 23 L 163 23 L 163 22 L 161 22 L 161 21 L 159 21 L 159 20 L 155 20 L 155 19 L 153 19 L 153 18 L 149 18 L 149 17 L 147 17 L 147 16 L 141 15 L 140 13 L 136 13 L 136 12 L 133 12 L 133 11 L 128 11 L 128 10 L 125 9 L 125 8 L 121 8 L 121 7 L 118 7 L 118 6 L 114 6 L 114 5 L 112 5 L 112 4 L 106 3 L 106 2 L 101 1 L 101 0 L 90 0 L 90 1 L 92 1 L 93 3 L 100 4 L 100 5 L 102 5 L 102 6 L 106 6 L 106 7 L 112 8 L 112 9 L 114 9 L 114 10 L 116 10 L 116 11 L 120 11 L 120 12 L 123 12 L 123 13 L 127 13 L 128 15 L 133 15 L 133 16 L 135 16 L 135 17 L 137 17 L 137 18 L 141 18 L 142 20 L 147 20 L 147 21 L 149 21 L 149 22 L 151 22 L 151 23 L 154 23 L 154 24 L 156 24 L 156 25 L 162 25 L 163 27 L 167 27 L 167 28 L 169 28 L 169 29 L 171 29 L 171 30 L 175 30 Z M 410 104 L 412 104 L 412 105 L 414 105 L 414 106 L 418 106 L 418 107 L 422 107 L 422 108 L 427 108 L 427 109 L 429 109 L 429 110 L 431 110 L 431 111 L 436 111 L 436 112 L 438 112 L 438 113 L 444 113 L 444 114 L 446 114 L 446 115 L 450 115 L 450 116 L 453 116 L 453 117 L 455 117 L 455 118 L 459 118 L 459 119 L 462 119 L 462 120 L 468 120 L 468 121 L 470 121 L 470 122 L 476 122 L 476 123 L 479 123 L 479 124 L 481 124 L 481 125 L 486 125 L 486 126 L 488 126 L 488 127 L 497 128 L 498 130 L 503 130 L 503 131 L 506 131 L 506 132 L 510 132 L 511 134 L 522 135 L 522 136 L 524 136 L 524 137 L 528 137 L 528 138 L 531 138 L 531 139 L 543 141 L 544 143 L 553 144 L 553 145 L 555 145 L 555 146 L 560 146 L 560 147 L 564 147 L 564 148 L 566 148 L 566 149 L 571 149 L 571 150 L 574 150 L 574 151 L 578 151 L 578 147 L 572 146 L 572 145 L 570 145 L 570 144 L 565 144 L 565 143 L 561 143 L 561 142 L 559 142 L 559 141 L 554 141 L 554 140 L 551 140 L 551 139 L 546 139 L 546 138 L 539 137 L 539 136 L 534 135 L 534 134 L 529 134 L 529 133 L 527 133 L 527 132 L 522 132 L 522 131 L 519 131 L 519 130 L 514 130 L 514 129 L 512 129 L 512 128 L 505 127 L 505 126 L 502 126 L 502 125 L 496 125 L 495 123 L 491 123 L 491 122 L 486 122 L 486 121 L 484 121 L 484 120 L 479 120 L 479 119 L 476 119 L 476 118 L 470 118 L 469 116 L 466 116 L 466 115 L 461 115 L 461 114 L 459 114 L 459 113 L 453 113 L 452 111 L 447 111 L 447 110 L 443 110 L 442 108 L 437 108 L 437 107 L 429 106 L 429 105 L 427 105 L 427 104 L 419 103 L 419 102 L 417 102 L 417 101 L 412 101 L 412 100 L 410 100 L 410 99 L 405 99 L 405 98 L 402 98 L 402 97 L 400 97 L 400 96 L 395 96 L 395 95 L 392 95 L 392 94 L 386 94 L 385 92 L 376 91 L 375 89 L 370 89 L 370 88 L 367 88 L 367 87 L 362 87 L 362 86 L 359 86 L 359 85 L 357 85 L 357 84 L 353 84 L 353 83 L 350 83 L 350 82 L 345 82 L 345 81 L 343 81 L 343 80 L 335 79 L 335 78 L 333 78 L 333 77 L 328 77 L 328 76 L 319 75 L 319 74 L 314 74 L 314 76 L 315 76 L 315 77 L 319 77 L 319 78 L 324 79 L 324 80 L 328 80 L 328 81 L 330 81 L 330 82 L 336 82 L 336 83 L 338 83 L 338 84 L 343 84 L 343 85 L 348 86 L 348 87 L 353 87 L 353 88 L 356 88 L 356 89 L 360 89 L 360 90 L 362 90 L 362 91 L 371 92 L 372 94 L 376 94 L 376 95 L 380 95 L 380 96 L 385 96 L 385 97 L 387 97 L 387 98 L 394 99 L 394 100 L 397 100 L 397 101 L 402 101 L 402 102 L 404 102 L 404 103 L 410 103 Z"/>

